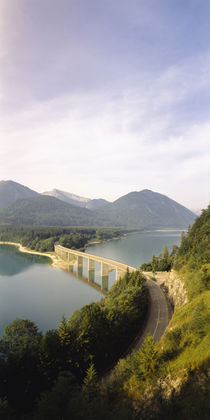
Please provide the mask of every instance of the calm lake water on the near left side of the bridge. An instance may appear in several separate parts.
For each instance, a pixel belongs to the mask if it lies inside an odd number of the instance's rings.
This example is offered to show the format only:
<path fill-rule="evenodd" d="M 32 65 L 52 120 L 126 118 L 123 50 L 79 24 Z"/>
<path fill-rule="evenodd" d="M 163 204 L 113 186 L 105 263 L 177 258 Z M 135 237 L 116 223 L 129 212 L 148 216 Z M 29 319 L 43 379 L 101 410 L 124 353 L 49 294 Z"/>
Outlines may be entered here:
<path fill-rule="evenodd" d="M 28 318 L 46 331 L 103 294 L 70 273 L 49 265 L 49 259 L 0 245 L 0 335 L 16 317 Z"/>

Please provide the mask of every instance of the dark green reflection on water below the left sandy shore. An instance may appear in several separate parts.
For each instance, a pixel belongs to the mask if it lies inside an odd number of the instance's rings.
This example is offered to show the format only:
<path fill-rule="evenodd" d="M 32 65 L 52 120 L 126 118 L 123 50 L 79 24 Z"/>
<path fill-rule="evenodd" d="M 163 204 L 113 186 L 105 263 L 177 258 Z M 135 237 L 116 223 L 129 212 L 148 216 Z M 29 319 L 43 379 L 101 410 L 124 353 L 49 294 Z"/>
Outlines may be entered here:
<path fill-rule="evenodd" d="M 27 271 L 34 264 L 49 264 L 49 262 L 48 257 L 22 253 L 14 245 L 0 245 L 0 275 L 2 276 L 15 276 Z"/>

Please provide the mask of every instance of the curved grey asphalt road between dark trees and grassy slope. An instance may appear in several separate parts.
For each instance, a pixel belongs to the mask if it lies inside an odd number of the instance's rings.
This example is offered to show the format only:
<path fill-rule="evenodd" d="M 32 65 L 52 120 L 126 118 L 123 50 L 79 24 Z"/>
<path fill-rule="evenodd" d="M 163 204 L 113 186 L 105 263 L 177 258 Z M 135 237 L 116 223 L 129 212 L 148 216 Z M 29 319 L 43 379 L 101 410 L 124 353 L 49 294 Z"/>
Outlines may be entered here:
<path fill-rule="evenodd" d="M 168 305 L 160 286 L 149 278 L 146 280 L 146 285 L 150 296 L 149 313 L 142 334 L 133 347 L 135 350 L 141 347 L 148 334 L 153 337 L 155 342 L 158 341 L 169 322 Z"/>

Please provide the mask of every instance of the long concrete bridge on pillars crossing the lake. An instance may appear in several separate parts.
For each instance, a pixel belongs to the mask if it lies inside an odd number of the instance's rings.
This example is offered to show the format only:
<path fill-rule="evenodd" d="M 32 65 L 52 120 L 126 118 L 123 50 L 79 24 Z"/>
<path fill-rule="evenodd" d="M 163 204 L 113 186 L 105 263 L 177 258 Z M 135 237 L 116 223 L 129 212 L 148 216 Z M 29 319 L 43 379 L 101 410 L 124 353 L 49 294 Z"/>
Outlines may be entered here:
<path fill-rule="evenodd" d="M 65 248 L 59 244 L 54 245 L 54 250 L 60 258 L 68 263 L 70 267 L 77 267 L 78 275 L 82 276 L 83 271 L 83 259 L 87 260 L 88 264 L 88 281 L 94 281 L 95 275 L 95 262 L 101 264 L 100 274 L 101 274 L 101 289 L 108 290 L 108 277 L 111 271 L 115 270 L 115 281 L 118 281 L 121 277 L 125 275 L 127 269 L 130 272 L 136 271 L 136 267 L 123 264 L 119 261 L 112 260 L 110 258 L 99 257 L 92 254 L 87 254 L 86 252 L 77 251 L 75 249 Z"/>

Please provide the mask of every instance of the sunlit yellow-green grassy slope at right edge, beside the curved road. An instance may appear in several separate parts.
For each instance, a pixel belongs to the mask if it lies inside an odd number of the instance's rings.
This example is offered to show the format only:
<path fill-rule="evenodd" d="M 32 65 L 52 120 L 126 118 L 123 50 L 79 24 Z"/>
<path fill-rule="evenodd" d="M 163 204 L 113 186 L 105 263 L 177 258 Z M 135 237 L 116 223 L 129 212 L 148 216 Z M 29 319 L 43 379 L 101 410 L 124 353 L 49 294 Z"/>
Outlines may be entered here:
<path fill-rule="evenodd" d="M 210 292 L 176 309 L 160 345 L 171 371 L 194 369 L 210 360 Z"/>

